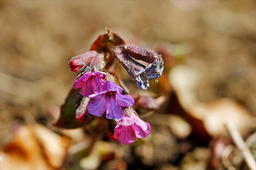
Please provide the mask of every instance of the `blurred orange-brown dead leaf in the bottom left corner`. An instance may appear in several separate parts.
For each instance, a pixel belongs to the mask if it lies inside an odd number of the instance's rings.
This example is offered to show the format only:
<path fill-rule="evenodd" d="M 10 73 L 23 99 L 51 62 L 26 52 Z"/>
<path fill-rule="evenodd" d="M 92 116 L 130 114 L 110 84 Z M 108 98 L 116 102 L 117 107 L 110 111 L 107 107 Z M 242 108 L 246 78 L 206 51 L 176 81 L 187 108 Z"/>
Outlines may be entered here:
<path fill-rule="evenodd" d="M 59 169 L 69 140 L 43 125 L 24 125 L 0 151 L 0 169 Z"/>

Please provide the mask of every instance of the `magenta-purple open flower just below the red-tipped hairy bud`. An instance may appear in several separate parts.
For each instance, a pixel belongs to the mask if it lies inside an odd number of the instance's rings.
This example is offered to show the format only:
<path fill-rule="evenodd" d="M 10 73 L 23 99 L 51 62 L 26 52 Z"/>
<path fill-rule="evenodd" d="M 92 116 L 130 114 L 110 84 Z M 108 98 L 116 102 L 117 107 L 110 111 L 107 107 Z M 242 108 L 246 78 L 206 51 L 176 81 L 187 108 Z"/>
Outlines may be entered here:
<path fill-rule="evenodd" d="M 106 74 L 100 71 L 85 73 L 74 82 L 73 88 L 82 88 L 81 95 L 88 97 L 106 90 L 106 82 L 103 81 L 105 78 Z"/>

